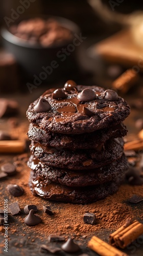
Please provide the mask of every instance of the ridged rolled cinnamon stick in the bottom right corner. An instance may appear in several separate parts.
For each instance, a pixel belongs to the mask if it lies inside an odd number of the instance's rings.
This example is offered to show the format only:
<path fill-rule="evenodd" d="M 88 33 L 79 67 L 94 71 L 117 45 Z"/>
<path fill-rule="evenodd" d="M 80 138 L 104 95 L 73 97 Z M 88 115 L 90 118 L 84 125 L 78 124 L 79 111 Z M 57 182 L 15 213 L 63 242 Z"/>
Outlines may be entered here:
<path fill-rule="evenodd" d="M 110 234 L 109 244 L 118 246 L 122 249 L 126 248 L 130 243 L 136 240 L 143 233 L 143 224 L 134 221 L 129 226 L 122 226 L 115 232 Z"/>

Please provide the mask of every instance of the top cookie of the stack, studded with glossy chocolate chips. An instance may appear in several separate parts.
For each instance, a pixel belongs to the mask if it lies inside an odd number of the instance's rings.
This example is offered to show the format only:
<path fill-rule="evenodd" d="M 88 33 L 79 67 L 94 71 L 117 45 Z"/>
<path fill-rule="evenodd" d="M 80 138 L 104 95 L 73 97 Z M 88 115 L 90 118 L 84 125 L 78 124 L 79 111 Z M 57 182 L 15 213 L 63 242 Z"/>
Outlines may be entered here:
<path fill-rule="evenodd" d="M 30 104 L 29 121 L 45 131 L 62 134 L 89 133 L 121 123 L 130 114 L 127 102 L 112 90 L 76 86 L 47 90 Z"/>

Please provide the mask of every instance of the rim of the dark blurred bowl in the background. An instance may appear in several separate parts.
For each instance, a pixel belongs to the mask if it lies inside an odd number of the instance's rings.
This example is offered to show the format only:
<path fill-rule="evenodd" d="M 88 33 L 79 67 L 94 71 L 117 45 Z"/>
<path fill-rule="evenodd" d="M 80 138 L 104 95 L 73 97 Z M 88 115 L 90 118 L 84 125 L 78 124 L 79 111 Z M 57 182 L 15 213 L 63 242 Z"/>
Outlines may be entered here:
<path fill-rule="evenodd" d="M 74 34 L 79 34 L 80 33 L 80 27 L 75 23 L 73 22 L 72 20 L 70 19 L 67 19 L 67 18 L 64 18 L 64 17 L 60 17 L 60 16 L 55 16 L 55 15 L 46 15 L 44 17 L 42 16 L 38 16 L 39 18 L 54 18 L 56 19 L 59 23 L 61 23 L 61 25 L 64 27 L 64 28 L 68 28 L 71 32 L 74 32 Z M 36 17 L 32 17 L 33 19 L 36 18 Z M 22 19 L 22 20 L 27 20 L 27 19 L 30 19 L 29 17 L 28 18 L 25 18 L 25 19 Z M 73 29 L 69 28 L 69 27 L 73 27 Z M 25 40 L 25 39 L 22 39 L 18 36 L 15 36 L 13 35 L 7 28 L 5 27 L 2 27 L 1 29 L 1 36 L 3 37 L 3 39 L 5 39 L 6 41 L 10 42 L 11 44 L 13 45 L 16 45 L 16 46 L 20 46 L 20 47 L 25 47 L 25 48 L 34 48 L 34 49 L 53 49 L 53 48 L 59 48 L 59 47 L 63 47 L 69 43 L 71 43 L 71 41 L 73 41 L 73 39 L 71 40 L 68 40 L 66 42 L 61 42 L 60 44 L 58 45 L 53 45 L 53 46 L 49 46 L 49 47 L 44 47 L 40 44 L 38 44 L 38 42 L 36 42 L 36 44 L 30 44 L 28 40 Z"/>

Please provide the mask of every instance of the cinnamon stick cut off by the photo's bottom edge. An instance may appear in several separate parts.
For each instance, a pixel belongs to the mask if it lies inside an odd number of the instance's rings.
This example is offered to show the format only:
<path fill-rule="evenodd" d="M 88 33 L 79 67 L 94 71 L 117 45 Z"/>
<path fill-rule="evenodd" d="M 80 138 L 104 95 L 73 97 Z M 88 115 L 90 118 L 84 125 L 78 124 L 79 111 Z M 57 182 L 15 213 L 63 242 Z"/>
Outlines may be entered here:
<path fill-rule="evenodd" d="M 101 256 L 127 256 L 125 252 L 116 249 L 95 236 L 88 242 L 88 247 Z"/>

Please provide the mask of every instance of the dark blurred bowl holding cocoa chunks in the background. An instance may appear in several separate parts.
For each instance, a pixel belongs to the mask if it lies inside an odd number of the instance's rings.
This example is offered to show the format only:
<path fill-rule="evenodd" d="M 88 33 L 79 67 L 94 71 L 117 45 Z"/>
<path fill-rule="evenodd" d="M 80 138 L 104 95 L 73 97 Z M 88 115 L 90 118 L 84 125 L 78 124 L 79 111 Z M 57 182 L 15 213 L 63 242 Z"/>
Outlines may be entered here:
<path fill-rule="evenodd" d="M 63 27 L 73 32 L 74 38 L 80 33 L 79 27 L 66 18 L 57 16 L 46 16 L 46 18 L 57 20 Z M 38 43 L 30 44 L 29 41 L 18 38 L 6 28 L 2 29 L 1 34 L 4 47 L 15 56 L 21 77 L 25 82 L 35 81 L 36 86 L 41 83 L 55 82 L 63 76 L 69 77 L 69 74 L 77 69 L 79 46 L 73 44 L 74 38 L 58 46 L 42 47 Z M 63 48 L 68 54 L 62 52 Z M 35 77 L 38 78 L 35 79 Z"/>

